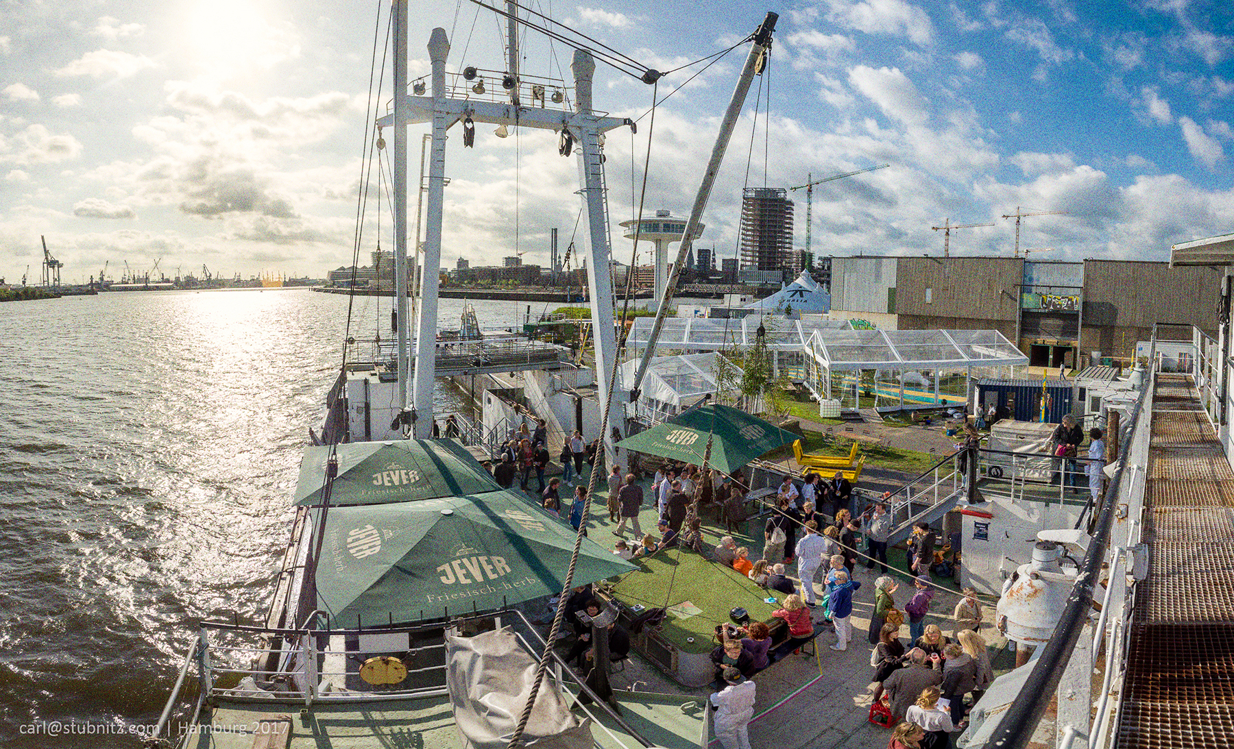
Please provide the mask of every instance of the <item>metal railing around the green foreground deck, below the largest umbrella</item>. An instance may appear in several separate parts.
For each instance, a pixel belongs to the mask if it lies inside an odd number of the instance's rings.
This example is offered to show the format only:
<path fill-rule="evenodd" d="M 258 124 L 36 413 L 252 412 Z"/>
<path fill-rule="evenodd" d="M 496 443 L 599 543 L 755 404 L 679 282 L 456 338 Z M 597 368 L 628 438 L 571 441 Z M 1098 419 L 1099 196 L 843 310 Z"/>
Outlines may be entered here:
<path fill-rule="evenodd" d="M 533 658 L 544 648 L 539 632 L 517 610 L 502 610 L 466 617 L 450 617 L 422 624 L 362 627 L 354 629 L 278 629 L 252 627 L 230 622 L 202 622 L 197 638 L 190 645 L 175 687 L 163 710 L 154 733 L 146 737 L 149 747 L 172 745 L 172 717 L 176 708 L 189 707 L 181 702 L 185 685 L 196 666 L 199 690 L 189 719 L 181 721 L 180 747 L 196 737 L 196 721 L 201 707 L 218 701 L 238 703 L 288 703 L 312 707 L 355 702 L 380 702 L 396 700 L 441 698 L 449 695 L 447 689 L 445 643 L 447 634 L 471 635 L 501 628 L 503 623 L 513 631 Z M 397 643 L 394 640 L 400 639 Z M 365 640 L 371 644 L 352 649 L 347 643 Z M 402 644 L 407 643 L 404 648 Z M 383 659 L 374 663 L 373 659 Z M 653 747 L 626 721 L 598 697 L 570 668 L 564 658 L 552 652 L 550 679 L 575 695 L 587 695 L 590 705 L 578 707 L 598 718 L 602 712 L 616 722 L 628 737 L 613 734 L 616 745 Z M 400 682 L 415 686 L 370 685 L 360 675 L 365 664 L 380 669 L 397 661 L 406 669 Z M 410 661 L 410 665 L 408 665 Z M 401 674 L 401 669 L 395 666 Z M 597 724 L 600 721 L 596 721 Z M 629 738 L 633 737 L 633 740 Z"/>

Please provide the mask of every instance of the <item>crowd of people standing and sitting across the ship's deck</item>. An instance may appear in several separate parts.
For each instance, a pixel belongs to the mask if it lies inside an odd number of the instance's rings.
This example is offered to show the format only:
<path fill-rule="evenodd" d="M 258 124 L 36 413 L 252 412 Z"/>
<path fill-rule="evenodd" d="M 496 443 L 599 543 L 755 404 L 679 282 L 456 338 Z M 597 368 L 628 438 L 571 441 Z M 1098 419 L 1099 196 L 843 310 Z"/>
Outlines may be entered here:
<path fill-rule="evenodd" d="M 549 455 L 542 429 L 543 422 L 534 433 L 524 424 L 521 432 L 527 434 L 511 439 L 494 475 L 506 487 L 521 479 L 522 489 L 528 492 L 534 476 L 544 510 L 559 516 L 568 512 L 571 526 L 578 529 L 586 502 L 584 479 L 587 466 L 595 461 L 595 444 L 589 445 L 575 432 L 559 455 L 563 475 L 545 481 Z M 747 507 L 744 481 L 740 471 L 726 475 L 695 465 L 669 465 L 655 473 L 648 492 L 634 473 L 623 474 L 622 466 L 612 466 L 605 489 L 608 518 L 616 523 L 612 533 L 618 537 L 613 554 L 636 559 L 679 545 L 682 523 L 696 494 L 700 511 L 713 510 L 729 533 L 745 529 L 750 508 Z M 566 506 L 561 492 L 571 485 L 573 496 Z M 830 479 L 807 474 L 800 487 L 786 478 L 775 496 L 766 500 L 772 511 L 760 528 L 764 536 L 761 557 L 749 547 L 738 545 L 732 534 L 722 537 L 713 549 L 716 561 L 747 576 L 753 585 L 784 596 L 780 608 L 772 612 L 774 619 L 782 621 L 780 627 L 769 627 L 765 622 L 716 627 L 717 645 L 711 653 L 716 692 L 711 702 L 717 711 L 717 737 L 726 749 L 749 748 L 745 724 L 753 717 L 756 692 L 753 676 L 758 671 L 798 650 L 826 624 L 835 633 L 835 642 L 829 648 L 837 652 L 849 648 L 853 602 L 863 590 L 855 576 L 859 563 L 871 574 L 877 568 L 882 575 L 872 585 L 866 639 L 874 645 L 870 658 L 874 702 L 886 705 L 898 723 L 888 749 L 950 747 L 950 734 L 966 726 L 965 698 L 976 702 L 993 679 L 987 647 L 979 634 L 983 611 L 975 591 L 966 589 L 956 605 L 951 637 L 937 624 L 926 623 L 935 589 L 929 576 L 935 564 L 935 538 L 930 527 L 917 523 L 907 542 L 905 571 L 912 580 L 912 591 L 901 611 L 896 605 L 900 584 L 890 576 L 887 564 L 892 527 L 888 506 L 874 502 L 853 517 L 851 492 L 851 484 L 842 471 Z M 654 534 L 644 533 L 639 522 L 640 512 L 648 506 L 656 511 Z M 627 527 L 633 532 L 631 540 L 626 539 Z M 864 549 L 859 538 L 865 542 Z M 793 564 L 796 581 L 790 576 Z M 816 624 L 813 613 L 819 607 L 822 617 Z M 590 632 L 573 612 L 586 611 L 595 616 L 592 611 L 600 610 L 590 586 L 578 589 L 568 602 L 566 616 L 575 628 L 569 659 L 579 659 L 580 669 L 590 668 L 585 660 L 591 654 Z M 908 624 L 907 643 L 900 637 L 903 624 Z M 784 632 L 774 635 L 777 628 Z M 628 650 L 629 634 L 619 624 L 611 626 L 611 658 L 626 658 Z"/>

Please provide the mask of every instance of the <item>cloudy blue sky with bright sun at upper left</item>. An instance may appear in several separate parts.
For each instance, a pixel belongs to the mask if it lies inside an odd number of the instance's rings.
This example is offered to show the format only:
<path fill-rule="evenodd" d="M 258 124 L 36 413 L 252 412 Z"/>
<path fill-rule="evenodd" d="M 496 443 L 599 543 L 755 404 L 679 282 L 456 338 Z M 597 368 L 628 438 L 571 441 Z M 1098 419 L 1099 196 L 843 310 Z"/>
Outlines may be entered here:
<path fill-rule="evenodd" d="M 653 88 L 596 70 L 595 106 L 638 120 L 605 143 L 613 257 L 639 202 L 684 216 L 768 10 L 770 63 L 747 99 L 696 242 L 738 246 L 743 188 L 818 185 L 817 255 L 1167 259 L 1172 243 L 1234 232 L 1234 10 L 1228 2 L 824 0 L 534 4 L 565 28 L 673 70 Z M 336 0 L 4 0 L 0 23 L 0 278 L 39 276 L 44 236 L 67 283 L 125 263 L 168 276 L 321 278 L 392 247 L 389 169 L 364 172 L 370 93 L 389 7 Z M 410 68 L 443 27 L 447 64 L 505 69 L 502 23 L 469 0 L 411 2 Z M 526 75 L 571 78 L 569 46 L 522 33 Z M 387 56 L 378 49 L 379 59 Z M 675 70 L 674 70 L 675 69 Z M 374 84 L 375 85 L 375 84 Z M 565 85 L 565 84 L 563 84 Z M 568 90 L 568 89 L 566 89 Z M 669 95 L 671 93 L 671 96 Z M 653 107 L 653 96 L 659 102 Z M 549 230 L 576 225 L 576 158 L 554 133 L 478 126 L 447 147 L 443 268 L 458 258 L 547 264 Z M 410 126 L 418 174 L 426 126 Z M 648 153 L 650 151 L 650 153 Z M 389 152 L 383 154 L 386 159 Z M 647 188 L 643 190 L 644 163 Z M 363 176 L 368 174 L 369 176 Z M 806 191 L 796 246 L 806 249 Z M 415 209 L 416 195 L 411 196 Z M 415 220 L 412 230 L 415 231 Z M 575 258 L 578 255 L 574 255 Z M 575 264 L 578 260 L 574 260 Z"/>

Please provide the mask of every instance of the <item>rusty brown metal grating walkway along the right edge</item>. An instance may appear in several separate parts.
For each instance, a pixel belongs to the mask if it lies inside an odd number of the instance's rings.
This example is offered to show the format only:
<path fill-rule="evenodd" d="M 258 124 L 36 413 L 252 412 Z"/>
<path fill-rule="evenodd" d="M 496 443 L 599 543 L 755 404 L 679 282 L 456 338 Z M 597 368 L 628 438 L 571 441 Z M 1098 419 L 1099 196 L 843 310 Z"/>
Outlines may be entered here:
<path fill-rule="evenodd" d="M 1190 378 L 1153 394 L 1120 749 L 1234 745 L 1234 470 Z"/>

